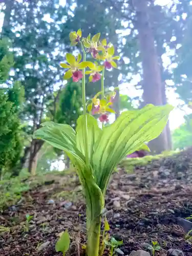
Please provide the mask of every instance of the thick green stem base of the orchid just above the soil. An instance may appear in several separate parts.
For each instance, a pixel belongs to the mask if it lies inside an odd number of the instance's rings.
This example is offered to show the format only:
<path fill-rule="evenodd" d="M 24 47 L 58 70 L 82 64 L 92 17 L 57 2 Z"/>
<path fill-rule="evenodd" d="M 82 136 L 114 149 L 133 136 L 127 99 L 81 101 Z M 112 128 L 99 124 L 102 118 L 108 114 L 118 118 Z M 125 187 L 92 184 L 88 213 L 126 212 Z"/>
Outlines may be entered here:
<path fill-rule="evenodd" d="M 100 231 L 101 231 L 101 216 L 96 216 L 88 225 L 88 242 L 87 242 L 87 254 L 88 256 L 99 255 L 100 245 Z"/>

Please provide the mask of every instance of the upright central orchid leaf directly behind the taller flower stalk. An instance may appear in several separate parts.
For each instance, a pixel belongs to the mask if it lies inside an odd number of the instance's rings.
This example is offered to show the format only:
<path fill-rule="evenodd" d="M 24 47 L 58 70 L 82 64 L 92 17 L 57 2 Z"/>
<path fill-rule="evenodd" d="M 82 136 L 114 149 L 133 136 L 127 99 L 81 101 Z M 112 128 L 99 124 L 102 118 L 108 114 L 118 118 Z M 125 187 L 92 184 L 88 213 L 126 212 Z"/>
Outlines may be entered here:
<path fill-rule="evenodd" d="M 76 146 L 78 150 L 85 156 L 85 118 L 87 118 L 88 125 L 88 144 L 89 144 L 89 159 L 92 164 L 92 157 L 94 153 L 94 144 L 96 140 L 101 136 L 102 130 L 99 128 L 97 120 L 87 114 L 87 117 L 81 115 L 77 120 L 77 128 L 76 128 Z"/>

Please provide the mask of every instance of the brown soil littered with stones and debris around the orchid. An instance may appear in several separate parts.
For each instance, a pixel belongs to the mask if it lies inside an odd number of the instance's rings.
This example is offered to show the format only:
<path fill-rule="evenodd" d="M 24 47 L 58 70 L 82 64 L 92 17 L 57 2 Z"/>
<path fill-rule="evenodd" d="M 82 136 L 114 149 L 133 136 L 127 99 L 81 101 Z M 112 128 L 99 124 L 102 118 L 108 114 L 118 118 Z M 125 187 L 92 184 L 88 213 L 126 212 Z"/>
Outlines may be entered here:
<path fill-rule="evenodd" d="M 119 168 L 113 175 L 103 214 L 110 232 L 122 239 L 124 255 L 143 249 L 143 243 L 158 241 L 166 255 L 176 248 L 192 256 L 185 230 L 178 218 L 192 215 L 192 149 L 135 167 L 134 174 Z M 129 161 L 129 160 L 127 160 Z M 44 185 L 23 193 L 22 200 L 0 215 L 1 256 L 53 256 L 60 232 L 68 229 L 69 254 L 80 255 L 86 241 L 85 204 L 74 174 L 49 176 Z M 26 231 L 26 214 L 33 215 Z M 190 227 L 191 224 L 191 227 Z M 188 223 L 192 228 L 192 223 Z M 108 252 L 105 252 L 108 254 Z"/>

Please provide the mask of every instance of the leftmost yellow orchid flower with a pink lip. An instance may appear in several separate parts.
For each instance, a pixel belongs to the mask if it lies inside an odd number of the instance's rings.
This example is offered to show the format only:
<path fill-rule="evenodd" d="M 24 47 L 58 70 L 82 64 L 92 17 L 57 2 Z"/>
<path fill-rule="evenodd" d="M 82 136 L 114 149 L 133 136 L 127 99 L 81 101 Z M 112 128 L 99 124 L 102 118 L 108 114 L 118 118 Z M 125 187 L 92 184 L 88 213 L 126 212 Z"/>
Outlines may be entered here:
<path fill-rule="evenodd" d="M 67 63 L 61 63 L 60 66 L 65 69 L 69 69 L 65 75 L 63 76 L 64 79 L 68 80 L 71 77 L 73 78 L 74 82 L 78 82 L 82 78 L 82 69 L 87 67 L 92 67 L 93 63 L 90 61 L 81 61 L 81 54 L 78 54 L 77 59 L 71 53 L 66 54 Z"/>

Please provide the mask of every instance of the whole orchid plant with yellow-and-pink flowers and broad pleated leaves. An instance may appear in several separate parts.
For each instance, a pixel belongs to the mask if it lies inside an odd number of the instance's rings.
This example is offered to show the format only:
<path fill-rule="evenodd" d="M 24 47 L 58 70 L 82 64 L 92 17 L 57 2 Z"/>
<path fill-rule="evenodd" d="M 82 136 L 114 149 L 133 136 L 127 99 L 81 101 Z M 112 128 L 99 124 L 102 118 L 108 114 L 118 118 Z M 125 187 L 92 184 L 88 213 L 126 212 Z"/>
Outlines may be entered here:
<path fill-rule="evenodd" d="M 149 150 L 145 143 L 160 135 L 173 106 L 148 104 L 141 110 L 125 111 L 114 123 L 104 125 L 110 113 L 115 113 L 115 92 L 105 94 L 104 72 L 117 68 L 116 61 L 120 57 L 115 56 L 111 43 L 106 39 L 100 41 L 100 33 L 82 38 L 79 29 L 70 33 L 70 40 L 71 46 L 80 45 L 82 55 L 75 57 L 67 53 L 67 63 L 60 66 L 67 69 L 64 79 L 81 81 L 83 115 L 77 120 L 76 131 L 67 124 L 45 122 L 34 138 L 63 150 L 75 166 L 87 204 L 87 255 L 98 256 L 104 196 L 112 172 L 126 155 Z M 93 62 L 87 61 L 87 54 L 92 55 Z M 90 83 L 101 81 L 101 91 L 87 102 L 86 75 Z M 94 114 L 99 115 L 102 127 Z"/>

